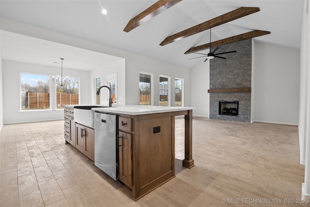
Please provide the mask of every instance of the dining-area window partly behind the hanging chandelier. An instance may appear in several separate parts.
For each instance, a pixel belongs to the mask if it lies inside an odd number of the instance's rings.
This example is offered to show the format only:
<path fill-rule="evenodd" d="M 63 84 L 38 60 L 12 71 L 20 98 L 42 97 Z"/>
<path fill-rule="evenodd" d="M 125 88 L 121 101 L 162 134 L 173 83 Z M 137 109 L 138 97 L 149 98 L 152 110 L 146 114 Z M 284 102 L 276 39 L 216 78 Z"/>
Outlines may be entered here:
<path fill-rule="evenodd" d="M 56 85 L 57 109 L 63 109 L 62 105 L 78 104 L 78 78 L 70 78 L 70 83 L 65 86 Z"/>

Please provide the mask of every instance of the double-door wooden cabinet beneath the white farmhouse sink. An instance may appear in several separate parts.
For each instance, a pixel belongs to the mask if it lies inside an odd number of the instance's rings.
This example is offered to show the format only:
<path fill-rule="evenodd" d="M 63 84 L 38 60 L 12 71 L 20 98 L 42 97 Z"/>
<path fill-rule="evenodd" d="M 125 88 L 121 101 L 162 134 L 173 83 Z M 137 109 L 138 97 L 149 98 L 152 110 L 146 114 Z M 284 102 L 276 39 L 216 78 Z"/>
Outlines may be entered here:
<path fill-rule="evenodd" d="M 76 123 L 76 147 L 94 160 L 94 130 Z"/>

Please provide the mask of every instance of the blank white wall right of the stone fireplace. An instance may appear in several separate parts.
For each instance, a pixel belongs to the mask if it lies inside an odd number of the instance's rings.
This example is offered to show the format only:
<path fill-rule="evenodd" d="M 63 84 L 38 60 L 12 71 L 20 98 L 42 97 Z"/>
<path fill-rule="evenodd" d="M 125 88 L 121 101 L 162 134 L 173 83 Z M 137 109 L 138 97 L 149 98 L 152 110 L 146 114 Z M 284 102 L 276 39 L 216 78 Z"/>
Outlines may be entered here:
<path fill-rule="evenodd" d="M 251 121 L 298 124 L 298 49 L 255 42 Z"/>

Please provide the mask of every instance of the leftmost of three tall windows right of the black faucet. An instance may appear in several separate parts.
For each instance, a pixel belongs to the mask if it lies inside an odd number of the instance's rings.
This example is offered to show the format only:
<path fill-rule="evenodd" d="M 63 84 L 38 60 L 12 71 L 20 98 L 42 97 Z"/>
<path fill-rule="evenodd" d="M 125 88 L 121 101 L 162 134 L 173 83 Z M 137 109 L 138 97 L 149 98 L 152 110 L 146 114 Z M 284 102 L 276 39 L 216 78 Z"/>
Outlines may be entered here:
<path fill-rule="evenodd" d="M 151 75 L 140 74 L 140 105 L 151 105 Z"/>

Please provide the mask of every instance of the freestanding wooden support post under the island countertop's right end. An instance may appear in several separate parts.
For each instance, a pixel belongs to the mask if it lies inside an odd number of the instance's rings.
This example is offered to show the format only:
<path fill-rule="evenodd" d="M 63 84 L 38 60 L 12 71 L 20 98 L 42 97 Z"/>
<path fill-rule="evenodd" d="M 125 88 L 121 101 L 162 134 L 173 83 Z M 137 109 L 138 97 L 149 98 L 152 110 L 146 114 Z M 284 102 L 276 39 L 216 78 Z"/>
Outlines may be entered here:
<path fill-rule="evenodd" d="M 193 159 L 193 110 L 188 110 L 184 117 L 185 119 L 185 159 L 183 159 L 183 166 L 187 168 L 192 168 L 194 166 Z"/>

